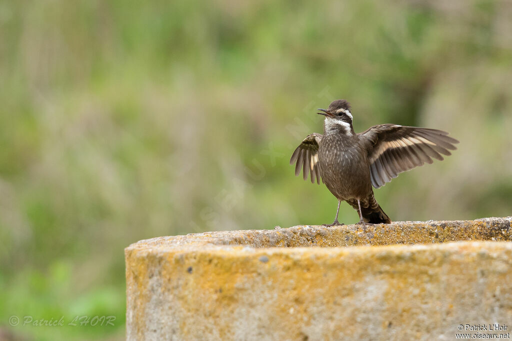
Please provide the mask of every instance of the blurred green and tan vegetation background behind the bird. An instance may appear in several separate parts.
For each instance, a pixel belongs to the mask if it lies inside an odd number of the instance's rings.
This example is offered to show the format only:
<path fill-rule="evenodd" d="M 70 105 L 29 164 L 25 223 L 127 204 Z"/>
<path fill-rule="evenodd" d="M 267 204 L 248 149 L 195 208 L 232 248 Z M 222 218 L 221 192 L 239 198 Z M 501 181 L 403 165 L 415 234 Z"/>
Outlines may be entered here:
<path fill-rule="evenodd" d="M 511 215 L 511 17 L 510 1 L 0 1 L 0 339 L 123 339 L 140 239 L 332 222 L 336 199 L 288 161 L 338 98 L 356 131 L 460 140 L 376 191 L 391 219 Z M 116 320 L 68 326 L 83 315 Z"/>

